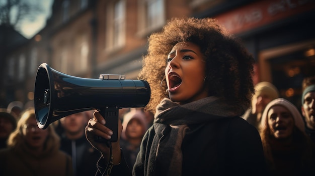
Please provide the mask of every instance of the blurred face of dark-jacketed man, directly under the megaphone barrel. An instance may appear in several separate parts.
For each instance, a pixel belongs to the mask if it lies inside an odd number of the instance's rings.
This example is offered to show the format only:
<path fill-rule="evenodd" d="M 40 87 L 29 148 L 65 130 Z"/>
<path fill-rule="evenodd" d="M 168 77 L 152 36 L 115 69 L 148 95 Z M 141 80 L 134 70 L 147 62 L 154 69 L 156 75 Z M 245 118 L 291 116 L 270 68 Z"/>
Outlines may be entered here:
<path fill-rule="evenodd" d="M 60 122 L 67 134 L 80 135 L 77 137 L 81 137 L 88 123 L 88 118 L 85 112 L 79 112 L 61 118 Z"/>

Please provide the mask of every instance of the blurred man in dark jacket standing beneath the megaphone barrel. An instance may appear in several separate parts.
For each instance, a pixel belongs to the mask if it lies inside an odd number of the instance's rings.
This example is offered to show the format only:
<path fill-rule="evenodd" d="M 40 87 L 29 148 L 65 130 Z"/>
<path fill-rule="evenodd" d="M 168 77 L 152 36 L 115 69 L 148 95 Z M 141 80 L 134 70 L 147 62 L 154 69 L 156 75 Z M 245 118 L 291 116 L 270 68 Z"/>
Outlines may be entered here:
<path fill-rule="evenodd" d="M 91 111 L 84 111 L 59 119 L 63 127 L 60 150 L 72 157 L 74 176 L 95 175 L 97 170 L 96 162 L 101 155 L 85 136 L 85 127 L 92 116 Z"/>

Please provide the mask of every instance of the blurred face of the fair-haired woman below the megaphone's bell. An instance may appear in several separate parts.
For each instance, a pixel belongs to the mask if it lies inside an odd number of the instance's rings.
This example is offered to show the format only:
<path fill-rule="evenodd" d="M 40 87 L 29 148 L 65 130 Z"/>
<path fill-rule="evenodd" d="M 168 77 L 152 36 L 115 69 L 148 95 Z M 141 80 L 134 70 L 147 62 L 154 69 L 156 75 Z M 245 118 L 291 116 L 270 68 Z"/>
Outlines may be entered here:
<path fill-rule="evenodd" d="M 27 144 L 33 149 L 43 148 L 45 140 L 48 136 L 48 129 L 40 129 L 34 117 L 30 117 L 24 125 L 22 132 Z"/>

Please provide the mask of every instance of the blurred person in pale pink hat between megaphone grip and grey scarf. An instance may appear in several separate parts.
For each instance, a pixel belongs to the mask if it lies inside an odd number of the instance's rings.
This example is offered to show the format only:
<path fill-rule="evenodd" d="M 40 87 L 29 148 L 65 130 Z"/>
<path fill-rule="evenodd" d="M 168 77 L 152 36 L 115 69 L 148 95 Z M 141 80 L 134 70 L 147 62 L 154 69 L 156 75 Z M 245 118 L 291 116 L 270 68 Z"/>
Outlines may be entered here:
<path fill-rule="evenodd" d="M 124 115 L 120 146 L 124 151 L 127 164 L 132 171 L 140 150 L 141 140 L 147 130 L 146 117 L 142 109 L 132 108 Z"/>

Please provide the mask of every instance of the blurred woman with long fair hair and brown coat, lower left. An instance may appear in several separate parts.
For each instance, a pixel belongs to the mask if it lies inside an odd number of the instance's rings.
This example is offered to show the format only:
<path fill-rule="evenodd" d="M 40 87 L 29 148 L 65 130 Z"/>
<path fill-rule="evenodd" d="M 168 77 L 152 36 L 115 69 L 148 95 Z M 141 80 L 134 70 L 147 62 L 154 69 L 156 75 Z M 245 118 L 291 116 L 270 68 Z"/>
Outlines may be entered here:
<path fill-rule="evenodd" d="M 53 127 L 37 126 L 34 109 L 22 113 L 8 148 L 0 150 L 0 175 L 72 175 L 71 158 L 59 151 Z"/>

